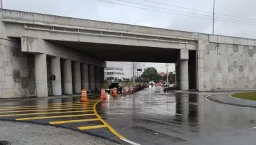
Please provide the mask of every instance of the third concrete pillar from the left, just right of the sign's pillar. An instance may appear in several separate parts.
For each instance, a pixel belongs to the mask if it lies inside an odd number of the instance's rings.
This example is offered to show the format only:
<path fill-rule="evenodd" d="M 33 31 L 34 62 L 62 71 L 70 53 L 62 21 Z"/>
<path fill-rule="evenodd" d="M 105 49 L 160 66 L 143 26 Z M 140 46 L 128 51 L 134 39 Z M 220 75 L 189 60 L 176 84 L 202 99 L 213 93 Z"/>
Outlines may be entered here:
<path fill-rule="evenodd" d="M 63 71 L 64 93 L 73 94 L 71 60 L 64 60 Z"/>

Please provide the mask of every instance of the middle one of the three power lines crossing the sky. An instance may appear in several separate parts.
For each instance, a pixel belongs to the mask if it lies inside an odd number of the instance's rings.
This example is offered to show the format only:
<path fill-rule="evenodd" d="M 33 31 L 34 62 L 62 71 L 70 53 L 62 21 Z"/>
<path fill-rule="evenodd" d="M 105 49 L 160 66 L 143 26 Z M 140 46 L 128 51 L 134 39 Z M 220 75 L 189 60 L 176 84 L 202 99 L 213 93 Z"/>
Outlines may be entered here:
<path fill-rule="evenodd" d="M 132 4 L 136 4 L 136 5 L 140 5 L 140 6 L 147 6 L 147 7 L 151 7 L 151 8 L 159 8 L 159 9 L 162 9 L 162 10 L 171 10 L 171 11 L 174 11 L 174 12 L 183 12 L 183 13 L 187 13 L 187 14 L 196 14 L 196 13 L 192 13 L 192 12 L 184 12 L 184 11 L 181 11 L 181 10 L 173 10 L 173 9 L 170 9 L 170 8 L 161 8 L 161 7 L 157 7 L 157 6 L 145 5 L 143 3 L 134 3 L 134 2 L 131 2 L 131 1 L 125 1 L 125 0 L 116 0 L 116 1 L 122 1 L 122 2 L 125 2 L 125 3 L 132 3 Z M 206 15 L 206 14 L 196 14 L 196 15 L 201 15 L 201 16 L 210 17 L 210 18 L 213 17 L 213 16 Z M 239 19 L 229 19 L 229 18 L 224 18 L 224 17 L 214 17 L 214 18 L 228 19 L 228 20 L 231 20 L 231 21 L 241 21 L 241 22 L 246 22 L 246 23 L 253 23 L 252 21 L 244 21 L 244 20 L 239 20 Z"/>

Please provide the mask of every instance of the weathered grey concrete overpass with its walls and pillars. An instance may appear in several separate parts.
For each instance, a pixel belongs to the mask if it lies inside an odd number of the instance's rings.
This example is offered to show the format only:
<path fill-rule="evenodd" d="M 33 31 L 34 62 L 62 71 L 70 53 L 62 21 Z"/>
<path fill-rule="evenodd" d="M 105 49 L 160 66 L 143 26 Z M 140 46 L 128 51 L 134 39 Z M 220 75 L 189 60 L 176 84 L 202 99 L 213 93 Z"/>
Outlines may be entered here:
<path fill-rule="evenodd" d="M 104 61 L 176 64 L 177 86 L 255 88 L 255 40 L 1 10 L 1 97 L 101 88 Z M 81 81 L 82 80 L 82 81 Z"/>

